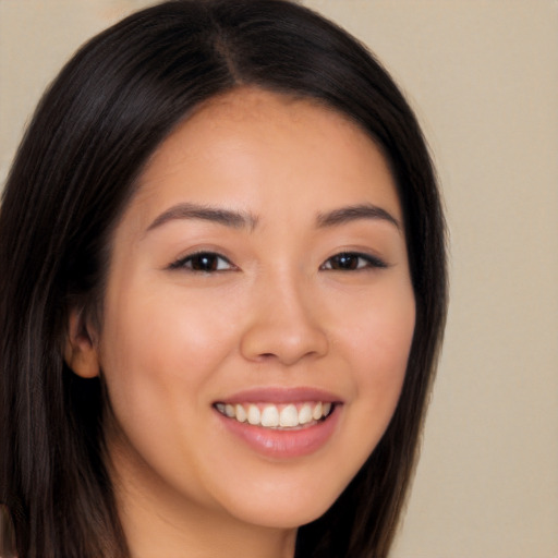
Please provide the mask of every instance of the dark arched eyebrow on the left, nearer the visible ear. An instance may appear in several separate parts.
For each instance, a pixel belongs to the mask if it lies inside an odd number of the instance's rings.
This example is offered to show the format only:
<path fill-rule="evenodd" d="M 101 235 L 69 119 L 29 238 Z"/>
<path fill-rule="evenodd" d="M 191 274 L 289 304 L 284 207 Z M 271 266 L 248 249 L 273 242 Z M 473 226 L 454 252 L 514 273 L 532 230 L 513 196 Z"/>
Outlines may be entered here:
<path fill-rule="evenodd" d="M 201 219 L 233 229 L 254 229 L 257 225 L 257 217 L 248 213 L 232 211 L 197 204 L 177 204 L 159 215 L 149 225 L 146 232 L 177 219 Z"/>

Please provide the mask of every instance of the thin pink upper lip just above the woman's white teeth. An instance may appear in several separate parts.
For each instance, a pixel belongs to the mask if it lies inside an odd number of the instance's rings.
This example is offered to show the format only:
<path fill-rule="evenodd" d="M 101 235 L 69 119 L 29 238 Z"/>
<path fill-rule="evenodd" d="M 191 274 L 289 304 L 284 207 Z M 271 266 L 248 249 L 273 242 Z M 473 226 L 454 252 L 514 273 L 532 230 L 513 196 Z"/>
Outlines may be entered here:
<path fill-rule="evenodd" d="M 236 391 L 218 399 L 216 403 L 303 403 L 322 401 L 323 403 L 342 403 L 342 399 L 330 391 L 312 387 L 258 387 Z"/>

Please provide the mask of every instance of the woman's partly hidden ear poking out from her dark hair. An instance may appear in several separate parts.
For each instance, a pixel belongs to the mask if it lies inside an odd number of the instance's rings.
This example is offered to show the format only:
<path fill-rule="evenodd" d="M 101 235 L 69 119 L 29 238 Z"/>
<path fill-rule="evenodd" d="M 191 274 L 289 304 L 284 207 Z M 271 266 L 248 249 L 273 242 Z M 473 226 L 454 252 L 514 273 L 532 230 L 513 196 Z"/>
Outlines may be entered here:
<path fill-rule="evenodd" d="M 99 375 L 99 355 L 96 336 L 85 320 L 82 310 L 73 308 L 68 316 L 68 335 L 64 347 L 64 361 L 82 378 Z"/>

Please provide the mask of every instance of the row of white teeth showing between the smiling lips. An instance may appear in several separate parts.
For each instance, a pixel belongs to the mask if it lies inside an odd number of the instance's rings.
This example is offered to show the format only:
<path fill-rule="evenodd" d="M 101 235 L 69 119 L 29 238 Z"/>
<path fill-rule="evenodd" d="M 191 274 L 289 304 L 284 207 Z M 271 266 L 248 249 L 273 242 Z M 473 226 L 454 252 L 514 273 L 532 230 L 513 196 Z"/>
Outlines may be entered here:
<path fill-rule="evenodd" d="M 293 430 L 313 426 L 325 421 L 336 403 L 307 401 L 304 403 L 215 403 L 222 415 L 239 423 L 280 430 Z"/>

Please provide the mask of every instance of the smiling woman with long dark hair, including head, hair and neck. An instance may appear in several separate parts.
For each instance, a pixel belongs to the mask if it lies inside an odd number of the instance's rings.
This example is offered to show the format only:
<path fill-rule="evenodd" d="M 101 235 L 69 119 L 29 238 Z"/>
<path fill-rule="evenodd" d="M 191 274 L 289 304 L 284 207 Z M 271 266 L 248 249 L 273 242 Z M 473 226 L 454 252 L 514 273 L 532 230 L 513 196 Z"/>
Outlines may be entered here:
<path fill-rule="evenodd" d="M 19 556 L 387 556 L 444 220 L 354 39 L 282 0 L 128 17 L 41 100 L 0 243 Z"/>

